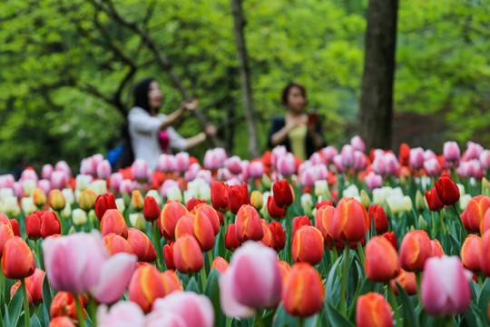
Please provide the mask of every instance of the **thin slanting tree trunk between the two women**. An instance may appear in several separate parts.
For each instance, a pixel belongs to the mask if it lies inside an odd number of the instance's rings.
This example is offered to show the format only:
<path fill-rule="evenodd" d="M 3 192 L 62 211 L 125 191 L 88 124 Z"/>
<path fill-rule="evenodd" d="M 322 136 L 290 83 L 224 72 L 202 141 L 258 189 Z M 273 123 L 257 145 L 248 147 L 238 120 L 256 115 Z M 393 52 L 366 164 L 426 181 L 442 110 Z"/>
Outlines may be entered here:
<path fill-rule="evenodd" d="M 259 157 L 259 138 L 257 132 L 257 124 L 253 114 L 252 94 L 250 87 L 250 73 L 247 54 L 247 45 L 243 35 L 245 20 L 241 8 L 241 0 L 231 1 L 231 13 L 233 15 L 233 34 L 237 44 L 237 55 L 240 67 L 241 93 L 243 94 L 243 110 L 245 112 L 245 121 L 247 123 L 247 131 L 249 132 L 249 155 L 250 158 Z"/>

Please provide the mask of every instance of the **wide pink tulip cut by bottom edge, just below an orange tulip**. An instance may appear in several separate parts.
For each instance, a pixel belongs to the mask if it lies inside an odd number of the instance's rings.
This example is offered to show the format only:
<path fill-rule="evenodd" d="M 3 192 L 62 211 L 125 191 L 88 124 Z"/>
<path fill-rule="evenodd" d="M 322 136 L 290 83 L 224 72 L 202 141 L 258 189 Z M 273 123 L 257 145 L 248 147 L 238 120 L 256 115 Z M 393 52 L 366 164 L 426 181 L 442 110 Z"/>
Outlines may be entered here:
<path fill-rule="evenodd" d="M 185 322 L 185 326 L 214 326 L 211 300 L 195 292 L 171 292 L 153 303 L 152 312 L 177 314 Z"/>

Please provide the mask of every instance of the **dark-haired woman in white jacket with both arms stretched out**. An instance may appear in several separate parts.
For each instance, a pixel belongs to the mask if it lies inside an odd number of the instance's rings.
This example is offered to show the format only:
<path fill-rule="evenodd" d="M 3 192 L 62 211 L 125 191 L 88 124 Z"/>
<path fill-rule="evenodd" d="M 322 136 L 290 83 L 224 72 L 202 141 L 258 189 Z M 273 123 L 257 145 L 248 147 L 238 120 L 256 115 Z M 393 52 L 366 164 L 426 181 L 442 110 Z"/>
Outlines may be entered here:
<path fill-rule="evenodd" d="M 216 133 L 213 125 L 206 127 L 205 132 L 189 138 L 183 138 L 173 127 L 182 114 L 196 108 L 198 101 L 182 103 L 179 109 L 169 115 L 158 114 L 162 104 L 162 90 L 152 78 L 142 80 L 134 89 L 134 106 L 128 114 L 128 128 L 132 143 L 134 160 L 144 159 L 154 171 L 160 154 L 171 154 L 171 151 L 184 151 L 201 144 Z"/>

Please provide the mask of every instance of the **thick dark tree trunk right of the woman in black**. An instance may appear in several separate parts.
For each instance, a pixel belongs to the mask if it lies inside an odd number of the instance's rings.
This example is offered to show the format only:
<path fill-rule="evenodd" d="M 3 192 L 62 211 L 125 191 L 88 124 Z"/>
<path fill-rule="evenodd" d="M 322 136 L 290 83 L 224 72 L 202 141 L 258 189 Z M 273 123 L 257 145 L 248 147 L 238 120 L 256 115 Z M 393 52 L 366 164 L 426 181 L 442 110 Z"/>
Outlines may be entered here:
<path fill-rule="evenodd" d="M 398 0 L 369 0 L 359 130 L 368 149 L 391 147 Z"/>

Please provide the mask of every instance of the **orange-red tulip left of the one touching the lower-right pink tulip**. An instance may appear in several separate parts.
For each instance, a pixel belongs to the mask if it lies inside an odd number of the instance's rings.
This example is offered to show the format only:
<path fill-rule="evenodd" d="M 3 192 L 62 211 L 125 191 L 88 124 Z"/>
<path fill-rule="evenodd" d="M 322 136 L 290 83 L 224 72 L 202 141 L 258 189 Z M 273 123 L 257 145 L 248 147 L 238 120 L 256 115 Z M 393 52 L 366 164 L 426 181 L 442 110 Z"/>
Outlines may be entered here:
<path fill-rule="evenodd" d="M 366 245 L 366 274 L 373 282 L 387 282 L 400 272 L 400 259 L 393 245 L 383 236 L 374 236 Z"/>

